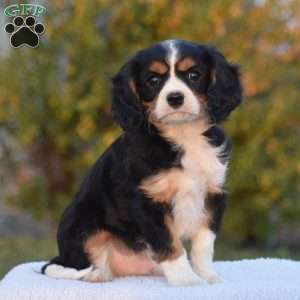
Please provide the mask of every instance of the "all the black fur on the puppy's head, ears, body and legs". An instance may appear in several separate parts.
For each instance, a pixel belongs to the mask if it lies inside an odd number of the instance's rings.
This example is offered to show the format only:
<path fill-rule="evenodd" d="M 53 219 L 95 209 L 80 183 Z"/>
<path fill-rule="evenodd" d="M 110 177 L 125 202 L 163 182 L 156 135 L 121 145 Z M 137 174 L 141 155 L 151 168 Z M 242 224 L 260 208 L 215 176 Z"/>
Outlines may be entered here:
<path fill-rule="evenodd" d="M 178 48 L 180 55 L 191 55 L 202 65 L 203 81 L 190 87 L 208 96 L 207 111 L 212 123 L 224 120 L 241 101 L 238 69 L 213 48 L 184 41 L 178 41 Z M 84 243 L 98 230 L 111 232 L 135 251 L 150 245 L 158 261 L 172 251 L 171 235 L 164 221 L 172 207 L 155 203 L 138 188 L 143 179 L 161 170 L 182 167 L 179 162 L 184 149 L 160 135 L 143 107 L 143 102 L 153 100 L 167 79 L 162 76 L 155 89 L 147 87 L 149 74 L 145 67 L 154 58 L 165 61 L 165 56 L 162 44 L 154 45 L 138 52 L 113 78 L 112 111 L 124 133 L 97 160 L 65 210 L 57 234 L 59 255 L 50 264 L 89 267 Z M 204 135 L 213 147 L 225 145 L 220 157 L 225 163 L 230 142 L 224 131 L 213 126 Z M 217 231 L 225 208 L 225 193 L 208 195 L 206 205 L 213 216 L 210 228 Z"/>

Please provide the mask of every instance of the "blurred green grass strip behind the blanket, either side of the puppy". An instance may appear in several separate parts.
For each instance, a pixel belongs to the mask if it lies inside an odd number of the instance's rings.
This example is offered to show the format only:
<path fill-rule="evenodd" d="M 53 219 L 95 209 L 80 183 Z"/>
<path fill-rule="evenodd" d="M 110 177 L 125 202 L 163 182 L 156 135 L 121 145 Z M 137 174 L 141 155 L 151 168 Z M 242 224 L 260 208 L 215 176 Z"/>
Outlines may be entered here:
<path fill-rule="evenodd" d="M 52 238 L 34 239 L 17 237 L 0 239 L 0 279 L 15 265 L 48 260 L 56 254 L 56 243 Z M 278 257 L 300 260 L 300 250 L 291 251 L 287 248 L 264 250 L 256 248 L 241 248 L 222 241 L 216 245 L 216 260 L 236 260 L 256 257 Z"/>

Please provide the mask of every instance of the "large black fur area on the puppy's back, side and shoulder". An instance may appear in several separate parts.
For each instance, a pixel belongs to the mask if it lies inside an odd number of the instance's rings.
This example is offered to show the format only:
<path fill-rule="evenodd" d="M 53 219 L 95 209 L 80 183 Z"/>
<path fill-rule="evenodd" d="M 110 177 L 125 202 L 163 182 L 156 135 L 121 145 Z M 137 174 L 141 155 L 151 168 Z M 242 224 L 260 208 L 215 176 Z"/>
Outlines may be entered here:
<path fill-rule="evenodd" d="M 176 166 L 180 155 L 157 133 L 125 132 L 99 158 L 64 212 L 57 235 L 59 258 L 52 263 L 88 267 L 83 245 L 99 229 L 112 232 L 134 250 L 143 250 L 147 243 L 158 257 L 171 251 L 164 223 L 171 208 L 155 204 L 137 187 L 143 178 Z"/>

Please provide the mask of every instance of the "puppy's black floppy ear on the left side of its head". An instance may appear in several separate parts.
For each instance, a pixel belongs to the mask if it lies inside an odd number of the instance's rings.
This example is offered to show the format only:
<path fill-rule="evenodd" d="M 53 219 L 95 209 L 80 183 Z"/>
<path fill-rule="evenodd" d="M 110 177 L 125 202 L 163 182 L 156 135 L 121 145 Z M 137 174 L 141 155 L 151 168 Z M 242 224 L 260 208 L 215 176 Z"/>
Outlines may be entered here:
<path fill-rule="evenodd" d="M 112 78 L 112 113 L 124 131 L 142 126 L 144 112 L 134 85 L 134 62 L 126 63 Z"/>

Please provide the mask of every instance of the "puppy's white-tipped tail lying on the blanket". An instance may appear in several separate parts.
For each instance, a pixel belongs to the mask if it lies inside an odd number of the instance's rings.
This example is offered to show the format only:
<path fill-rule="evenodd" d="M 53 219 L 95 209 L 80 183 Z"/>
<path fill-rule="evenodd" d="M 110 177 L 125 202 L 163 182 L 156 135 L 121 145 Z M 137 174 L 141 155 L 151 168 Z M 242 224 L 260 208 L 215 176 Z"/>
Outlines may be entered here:
<path fill-rule="evenodd" d="M 41 271 L 42 274 L 57 279 L 83 279 L 92 271 L 92 268 L 90 266 L 86 269 L 77 270 L 75 268 L 64 267 L 59 263 L 59 257 L 55 257 L 45 264 Z"/>

